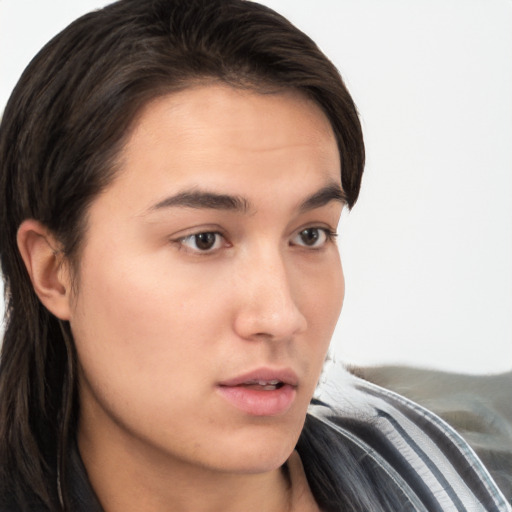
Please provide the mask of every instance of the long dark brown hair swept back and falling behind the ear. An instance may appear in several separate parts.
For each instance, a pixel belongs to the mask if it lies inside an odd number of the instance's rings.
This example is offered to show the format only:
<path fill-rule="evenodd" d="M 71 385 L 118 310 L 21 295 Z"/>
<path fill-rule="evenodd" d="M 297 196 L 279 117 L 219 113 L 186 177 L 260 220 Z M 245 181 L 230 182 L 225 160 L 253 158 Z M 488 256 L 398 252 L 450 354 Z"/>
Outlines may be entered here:
<path fill-rule="evenodd" d="M 272 10 L 243 0 L 120 0 L 50 41 L 0 127 L 0 486 L 22 507 L 33 496 L 50 510 L 69 508 L 66 452 L 79 404 L 69 325 L 36 297 L 17 229 L 39 220 L 78 262 L 87 207 L 113 178 L 140 108 L 210 80 L 294 88 L 316 101 L 337 139 L 349 206 L 357 199 L 364 145 L 354 103 L 313 41 Z"/>

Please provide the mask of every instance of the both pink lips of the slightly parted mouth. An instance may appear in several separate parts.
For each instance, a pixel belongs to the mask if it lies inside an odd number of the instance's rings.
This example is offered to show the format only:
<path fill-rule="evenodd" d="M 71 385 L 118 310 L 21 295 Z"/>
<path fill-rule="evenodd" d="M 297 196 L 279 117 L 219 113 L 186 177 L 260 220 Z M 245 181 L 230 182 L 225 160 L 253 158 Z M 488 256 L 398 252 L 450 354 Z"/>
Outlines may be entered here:
<path fill-rule="evenodd" d="M 279 381 L 271 390 L 249 387 L 257 382 Z M 236 409 L 251 416 L 279 416 L 293 404 L 299 379 L 289 368 L 259 368 L 217 385 L 219 394 Z"/>

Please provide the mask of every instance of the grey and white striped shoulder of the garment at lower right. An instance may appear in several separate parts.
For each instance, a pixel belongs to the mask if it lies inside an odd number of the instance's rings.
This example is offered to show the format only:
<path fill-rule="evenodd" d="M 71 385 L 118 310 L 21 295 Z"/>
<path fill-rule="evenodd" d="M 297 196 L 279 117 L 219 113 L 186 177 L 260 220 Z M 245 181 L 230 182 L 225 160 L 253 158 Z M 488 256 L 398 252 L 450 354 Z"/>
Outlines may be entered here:
<path fill-rule="evenodd" d="M 473 449 L 444 420 L 339 364 L 326 367 L 309 413 L 387 473 L 408 502 L 404 510 L 512 511 Z"/>

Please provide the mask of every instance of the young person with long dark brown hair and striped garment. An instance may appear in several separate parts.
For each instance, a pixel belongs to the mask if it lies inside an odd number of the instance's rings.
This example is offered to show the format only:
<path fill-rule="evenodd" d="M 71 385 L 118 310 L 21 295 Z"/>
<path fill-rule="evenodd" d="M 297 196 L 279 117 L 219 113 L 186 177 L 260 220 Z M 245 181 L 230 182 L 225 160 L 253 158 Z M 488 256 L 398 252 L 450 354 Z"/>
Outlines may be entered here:
<path fill-rule="evenodd" d="M 363 164 L 339 74 L 258 4 L 121 0 L 50 42 L 0 135 L 4 510 L 509 510 L 415 404 L 310 405 Z"/>

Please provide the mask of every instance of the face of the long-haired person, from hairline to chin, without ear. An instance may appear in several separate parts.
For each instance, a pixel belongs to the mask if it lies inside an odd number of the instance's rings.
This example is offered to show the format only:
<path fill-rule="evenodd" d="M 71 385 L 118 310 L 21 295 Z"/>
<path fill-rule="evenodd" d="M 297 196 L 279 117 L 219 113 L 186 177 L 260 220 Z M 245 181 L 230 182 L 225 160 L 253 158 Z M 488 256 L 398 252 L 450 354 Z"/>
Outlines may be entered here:
<path fill-rule="evenodd" d="M 146 106 L 88 214 L 79 439 L 279 467 L 341 309 L 342 206 L 332 129 L 298 93 L 210 85 Z"/>

